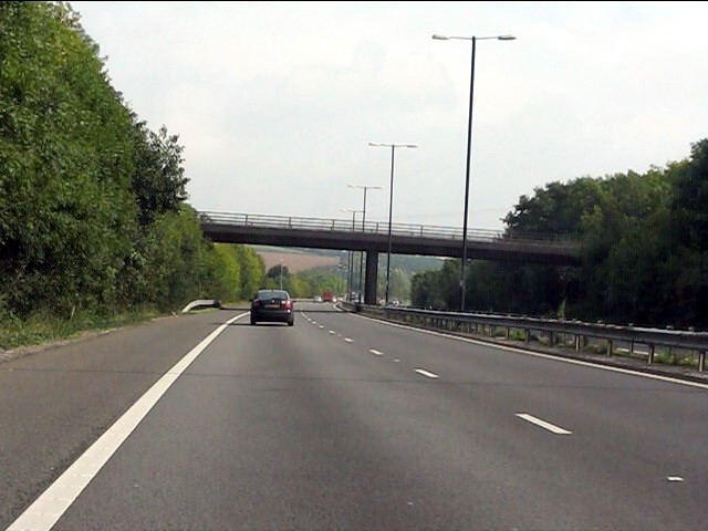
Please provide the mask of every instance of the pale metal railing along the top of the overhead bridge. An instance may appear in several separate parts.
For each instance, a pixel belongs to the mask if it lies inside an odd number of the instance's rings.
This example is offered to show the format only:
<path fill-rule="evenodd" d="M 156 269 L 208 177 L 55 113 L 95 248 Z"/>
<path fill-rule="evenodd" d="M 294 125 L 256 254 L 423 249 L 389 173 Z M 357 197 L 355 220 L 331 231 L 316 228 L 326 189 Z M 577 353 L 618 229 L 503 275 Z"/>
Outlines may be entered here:
<path fill-rule="evenodd" d="M 364 232 L 371 235 L 388 235 L 388 222 L 366 221 L 352 223 L 346 219 L 308 218 L 295 216 L 269 216 L 261 214 L 232 214 L 232 212 L 199 212 L 202 221 L 232 225 L 240 227 L 261 227 L 273 229 L 302 229 L 302 230 L 330 230 L 342 232 Z M 433 238 L 446 240 L 462 240 L 462 229 L 457 227 L 392 223 L 393 236 L 408 236 L 414 238 Z M 507 233 L 501 230 L 468 229 L 467 239 L 478 242 L 529 242 L 542 244 L 558 244 L 574 247 L 575 242 L 561 235 L 539 233 Z"/>

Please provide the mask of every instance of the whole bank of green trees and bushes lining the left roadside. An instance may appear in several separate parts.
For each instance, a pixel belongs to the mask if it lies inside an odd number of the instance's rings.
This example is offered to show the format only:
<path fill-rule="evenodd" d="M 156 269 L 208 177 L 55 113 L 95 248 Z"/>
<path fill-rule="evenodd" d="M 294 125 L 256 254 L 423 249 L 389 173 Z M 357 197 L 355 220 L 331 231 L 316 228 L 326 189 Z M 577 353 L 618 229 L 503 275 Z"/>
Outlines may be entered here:
<path fill-rule="evenodd" d="M 254 252 L 202 238 L 183 163 L 69 6 L 0 3 L 0 347 L 37 315 L 105 321 L 260 285 Z"/>

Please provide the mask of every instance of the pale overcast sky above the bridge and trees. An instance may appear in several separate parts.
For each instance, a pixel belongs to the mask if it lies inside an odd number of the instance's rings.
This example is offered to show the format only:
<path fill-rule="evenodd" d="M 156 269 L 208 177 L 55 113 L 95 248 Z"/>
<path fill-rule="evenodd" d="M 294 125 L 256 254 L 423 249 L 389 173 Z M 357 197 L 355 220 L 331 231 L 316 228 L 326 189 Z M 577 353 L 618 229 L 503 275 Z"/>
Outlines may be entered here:
<path fill-rule="evenodd" d="M 708 137 L 708 2 L 71 2 L 113 86 L 185 146 L 199 210 L 462 225 Z"/>

